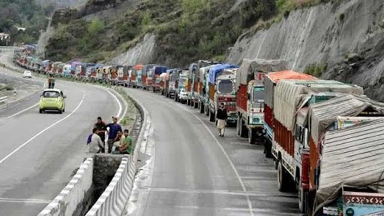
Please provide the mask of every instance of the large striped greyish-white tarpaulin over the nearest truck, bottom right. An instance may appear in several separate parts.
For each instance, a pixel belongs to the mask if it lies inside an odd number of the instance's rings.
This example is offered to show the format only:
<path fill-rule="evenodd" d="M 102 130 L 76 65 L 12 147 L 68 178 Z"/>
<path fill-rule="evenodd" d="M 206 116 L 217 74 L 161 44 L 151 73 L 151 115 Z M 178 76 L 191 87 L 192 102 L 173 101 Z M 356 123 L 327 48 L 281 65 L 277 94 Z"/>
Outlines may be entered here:
<path fill-rule="evenodd" d="M 384 193 L 383 129 L 384 120 L 378 119 L 326 132 L 314 202 L 316 210 L 336 199 L 342 185 L 367 186 Z"/>

